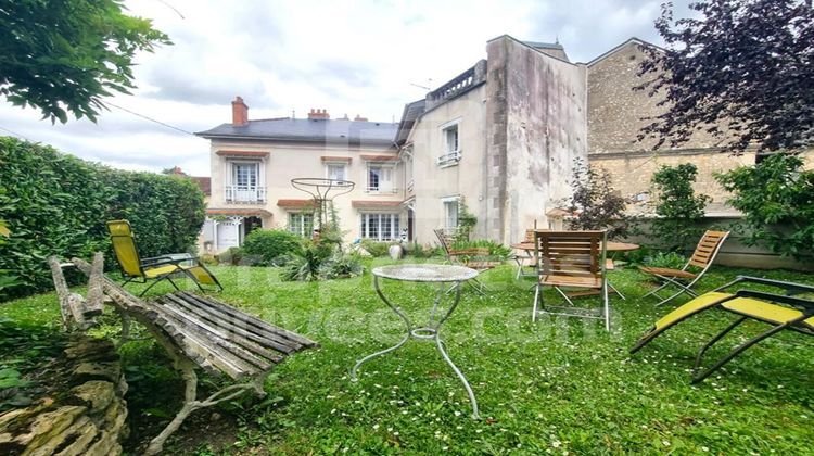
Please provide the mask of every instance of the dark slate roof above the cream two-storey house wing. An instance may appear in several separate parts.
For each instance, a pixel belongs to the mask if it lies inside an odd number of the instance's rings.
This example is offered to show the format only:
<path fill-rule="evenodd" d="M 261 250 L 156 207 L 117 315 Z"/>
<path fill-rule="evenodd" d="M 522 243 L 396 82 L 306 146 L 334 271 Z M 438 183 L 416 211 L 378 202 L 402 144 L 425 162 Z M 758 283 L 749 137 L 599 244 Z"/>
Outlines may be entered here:
<path fill-rule="evenodd" d="M 221 124 L 195 135 L 207 139 L 265 139 L 297 142 L 330 142 L 358 145 L 393 145 L 398 124 L 310 118 L 270 118 L 233 126 Z"/>

